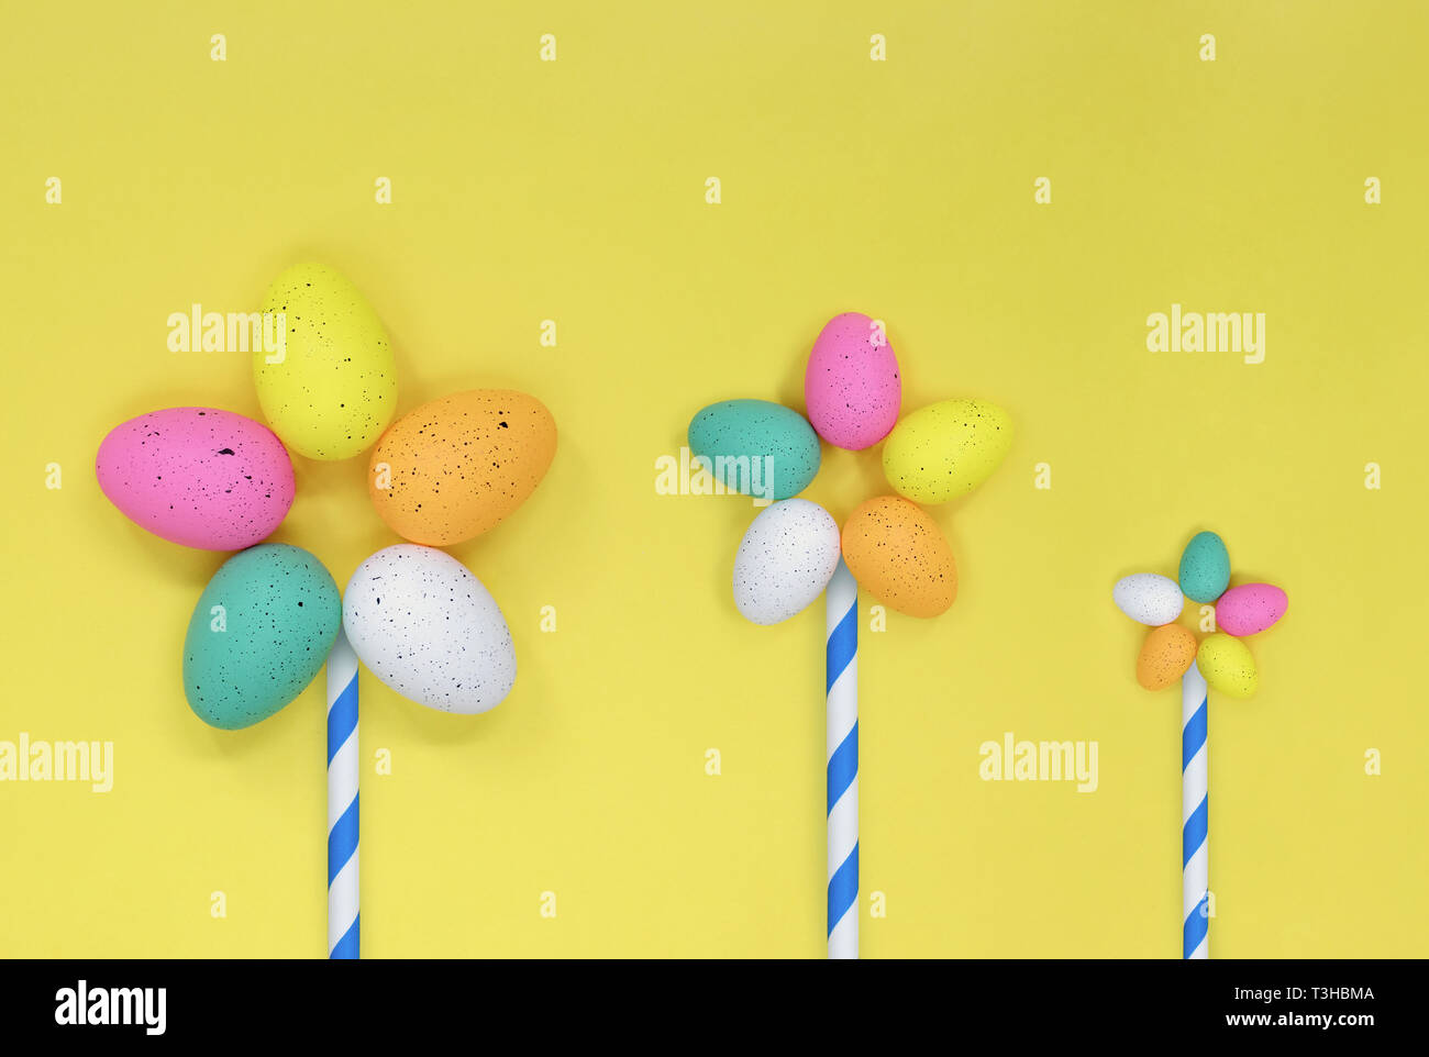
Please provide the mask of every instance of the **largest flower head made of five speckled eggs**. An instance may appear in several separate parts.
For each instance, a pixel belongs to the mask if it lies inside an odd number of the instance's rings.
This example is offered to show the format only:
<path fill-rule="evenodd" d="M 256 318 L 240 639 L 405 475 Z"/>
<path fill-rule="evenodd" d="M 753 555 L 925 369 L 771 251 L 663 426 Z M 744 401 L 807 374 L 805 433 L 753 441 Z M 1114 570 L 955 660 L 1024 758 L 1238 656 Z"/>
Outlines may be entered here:
<path fill-rule="evenodd" d="M 482 581 L 436 546 L 492 528 L 530 496 L 556 451 L 550 413 L 523 393 L 474 390 L 387 429 L 392 344 L 356 286 L 296 264 L 273 281 L 263 313 L 253 317 L 267 327 L 253 336 L 253 380 L 269 426 L 213 407 L 150 411 L 110 430 L 96 459 L 100 489 L 140 527 L 237 551 L 189 621 L 189 707 L 221 730 L 273 716 L 313 681 L 344 628 L 399 694 L 442 711 L 493 708 L 516 680 L 510 628 Z M 289 451 L 336 461 L 374 441 L 373 506 L 410 543 L 370 556 L 340 597 L 313 554 L 264 540 L 293 504 Z"/>

